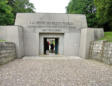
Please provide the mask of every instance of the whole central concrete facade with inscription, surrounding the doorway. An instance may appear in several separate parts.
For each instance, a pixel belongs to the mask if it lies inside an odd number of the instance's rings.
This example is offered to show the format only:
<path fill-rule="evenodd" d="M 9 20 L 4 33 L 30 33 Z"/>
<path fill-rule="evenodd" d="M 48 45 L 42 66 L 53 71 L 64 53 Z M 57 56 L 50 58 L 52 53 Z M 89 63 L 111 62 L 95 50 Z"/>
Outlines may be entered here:
<path fill-rule="evenodd" d="M 63 34 L 59 37 L 58 54 L 79 56 L 80 32 L 82 28 L 87 28 L 85 15 L 63 13 L 18 13 L 15 25 L 21 25 L 24 28 L 25 56 L 44 54 L 41 34 L 49 35 L 51 38 L 56 34 Z M 63 47 L 61 47 L 62 45 Z"/>

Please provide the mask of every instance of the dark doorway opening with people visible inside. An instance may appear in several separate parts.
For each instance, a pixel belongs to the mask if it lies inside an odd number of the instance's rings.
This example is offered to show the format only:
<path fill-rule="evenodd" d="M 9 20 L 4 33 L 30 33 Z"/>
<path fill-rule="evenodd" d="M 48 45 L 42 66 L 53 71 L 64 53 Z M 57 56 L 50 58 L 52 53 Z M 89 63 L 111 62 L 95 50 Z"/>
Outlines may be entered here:
<path fill-rule="evenodd" d="M 58 54 L 59 38 L 44 38 L 44 54 Z"/>

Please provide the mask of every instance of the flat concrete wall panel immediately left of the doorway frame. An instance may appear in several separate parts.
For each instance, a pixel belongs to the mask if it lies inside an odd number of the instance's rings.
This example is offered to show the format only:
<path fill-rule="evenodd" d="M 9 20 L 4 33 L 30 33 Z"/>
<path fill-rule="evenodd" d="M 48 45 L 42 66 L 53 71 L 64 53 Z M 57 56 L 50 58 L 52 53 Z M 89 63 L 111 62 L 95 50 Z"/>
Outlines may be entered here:
<path fill-rule="evenodd" d="M 33 28 L 24 28 L 24 53 L 25 56 L 39 55 L 39 33 Z"/>

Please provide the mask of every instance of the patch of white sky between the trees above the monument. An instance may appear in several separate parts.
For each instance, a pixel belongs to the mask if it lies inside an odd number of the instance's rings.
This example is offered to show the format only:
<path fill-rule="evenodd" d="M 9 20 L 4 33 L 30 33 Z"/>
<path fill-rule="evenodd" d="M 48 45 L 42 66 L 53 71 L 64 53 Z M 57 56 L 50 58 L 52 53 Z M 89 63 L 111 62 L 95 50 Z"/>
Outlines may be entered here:
<path fill-rule="evenodd" d="M 30 0 L 39 13 L 66 13 L 70 0 Z"/>

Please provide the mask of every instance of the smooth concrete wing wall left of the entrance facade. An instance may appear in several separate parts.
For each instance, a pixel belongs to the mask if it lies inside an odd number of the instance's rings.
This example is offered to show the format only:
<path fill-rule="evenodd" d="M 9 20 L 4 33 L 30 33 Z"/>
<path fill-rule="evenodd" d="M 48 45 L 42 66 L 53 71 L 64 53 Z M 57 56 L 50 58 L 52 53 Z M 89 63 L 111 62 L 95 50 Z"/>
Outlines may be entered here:
<path fill-rule="evenodd" d="M 23 30 L 20 26 L 0 26 L 0 39 L 16 44 L 17 57 L 24 56 Z"/>

